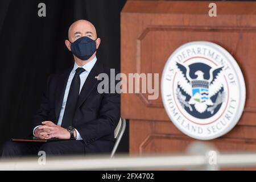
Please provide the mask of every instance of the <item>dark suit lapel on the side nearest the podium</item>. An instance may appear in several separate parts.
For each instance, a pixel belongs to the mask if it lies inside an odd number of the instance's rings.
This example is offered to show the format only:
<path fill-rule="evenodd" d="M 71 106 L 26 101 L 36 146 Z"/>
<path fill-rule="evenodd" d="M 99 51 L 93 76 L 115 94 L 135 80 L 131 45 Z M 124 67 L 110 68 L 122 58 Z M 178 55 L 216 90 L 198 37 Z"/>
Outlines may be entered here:
<path fill-rule="evenodd" d="M 95 78 L 98 76 L 98 74 L 103 72 L 103 67 L 102 64 L 96 61 L 94 64 L 92 70 L 90 71 L 88 77 L 85 80 L 84 85 L 82 86 L 80 95 L 79 95 L 79 100 L 77 102 L 77 108 L 81 106 L 81 104 L 86 100 L 86 98 L 89 96 L 90 92 L 93 90 L 93 88 L 97 85 L 97 83 L 100 80 L 97 80 Z"/>

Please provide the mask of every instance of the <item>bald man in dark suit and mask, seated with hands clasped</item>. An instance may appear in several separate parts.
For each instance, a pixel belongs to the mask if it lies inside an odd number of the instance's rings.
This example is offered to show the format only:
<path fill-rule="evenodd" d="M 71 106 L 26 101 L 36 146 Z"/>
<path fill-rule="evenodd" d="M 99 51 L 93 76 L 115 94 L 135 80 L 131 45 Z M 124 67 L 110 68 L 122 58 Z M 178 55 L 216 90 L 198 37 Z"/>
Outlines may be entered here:
<path fill-rule="evenodd" d="M 98 75 L 110 69 L 96 58 L 101 39 L 87 20 L 69 27 L 65 44 L 74 65 L 62 74 L 48 77 L 46 92 L 33 121 L 37 138 L 70 139 L 56 142 L 13 142 L 3 145 L 2 156 L 108 153 L 114 146 L 114 129 L 120 118 L 118 93 L 99 93 Z"/>

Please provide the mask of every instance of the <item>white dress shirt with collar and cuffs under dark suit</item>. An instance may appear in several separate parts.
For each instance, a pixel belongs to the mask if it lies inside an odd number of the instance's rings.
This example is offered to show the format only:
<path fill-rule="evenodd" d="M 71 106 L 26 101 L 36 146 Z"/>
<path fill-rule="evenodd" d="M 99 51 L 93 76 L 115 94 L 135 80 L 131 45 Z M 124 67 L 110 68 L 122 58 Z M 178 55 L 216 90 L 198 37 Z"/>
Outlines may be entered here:
<path fill-rule="evenodd" d="M 94 64 L 96 63 L 96 61 L 97 61 L 97 57 L 95 56 L 89 63 L 86 63 L 85 65 L 83 65 L 81 67 L 81 68 L 84 68 L 85 71 L 80 74 L 80 91 L 79 91 L 79 94 L 81 92 L 82 86 L 84 85 L 84 82 L 85 82 L 86 78 L 88 77 L 88 75 L 89 75 L 91 69 L 93 68 Z M 79 65 L 77 65 L 76 62 L 75 62 L 74 67 L 73 67 L 73 69 L 72 69 L 72 71 L 71 71 L 71 73 L 68 77 L 68 82 L 67 82 L 67 86 L 66 86 L 66 89 L 65 89 L 64 98 L 63 98 L 63 102 L 62 102 L 62 105 L 61 105 L 60 117 L 59 117 L 59 120 L 57 122 L 57 125 L 59 125 L 59 126 L 61 126 L 61 122 L 62 122 L 64 111 L 65 111 L 65 106 L 66 106 L 67 99 L 68 99 L 68 92 L 69 92 L 71 82 L 72 82 L 73 77 L 75 76 L 77 68 L 79 68 Z M 39 126 L 42 126 L 42 125 L 39 125 Z M 35 136 L 35 130 L 39 126 L 36 126 L 34 128 L 34 130 L 33 130 L 34 136 Z M 76 140 L 82 140 L 81 135 L 79 134 L 79 131 L 76 130 L 76 133 L 77 133 Z"/>

